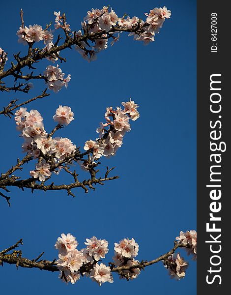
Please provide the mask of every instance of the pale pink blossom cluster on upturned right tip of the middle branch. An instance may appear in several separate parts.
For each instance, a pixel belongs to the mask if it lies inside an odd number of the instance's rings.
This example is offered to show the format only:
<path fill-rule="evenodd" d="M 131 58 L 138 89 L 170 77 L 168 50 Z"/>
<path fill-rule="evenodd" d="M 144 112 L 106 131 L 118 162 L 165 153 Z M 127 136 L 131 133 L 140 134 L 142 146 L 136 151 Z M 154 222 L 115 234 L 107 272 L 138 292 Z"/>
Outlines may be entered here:
<path fill-rule="evenodd" d="M 106 109 L 106 122 L 100 122 L 99 128 L 96 129 L 99 138 L 85 143 L 84 149 L 92 153 L 92 161 L 102 156 L 114 156 L 117 149 L 122 146 L 123 136 L 131 130 L 129 119 L 134 121 L 140 117 L 138 105 L 131 98 L 126 103 L 122 102 L 122 105 L 123 110 L 119 107 L 116 110 L 112 107 Z"/>

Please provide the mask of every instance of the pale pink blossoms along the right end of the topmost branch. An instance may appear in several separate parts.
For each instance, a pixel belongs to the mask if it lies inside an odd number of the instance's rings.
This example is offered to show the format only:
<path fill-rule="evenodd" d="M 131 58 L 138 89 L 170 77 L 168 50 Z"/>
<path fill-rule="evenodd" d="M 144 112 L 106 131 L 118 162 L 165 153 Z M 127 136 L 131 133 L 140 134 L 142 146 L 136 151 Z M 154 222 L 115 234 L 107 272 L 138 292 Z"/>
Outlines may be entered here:
<path fill-rule="evenodd" d="M 82 27 L 86 29 L 89 26 L 89 33 L 92 35 L 102 33 L 102 39 L 96 39 L 90 49 L 87 48 L 87 44 L 83 43 L 84 48 L 76 46 L 76 50 L 84 59 L 88 61 L 95 60 L 97 53 L 108 48 L 109 38 L 113 39 L 111 45 L 114 45 L 119 40 L 119 32 L 123 30 L 136 29 L 129 36 L 134 36 L 136 41 L 144 41 L 145 45 L 150 41 L 154 41 L 155 34 L 162 28 L 165 19 L 170 18 L 171 11 L 164 6 L 163 8 L 154 8 L 149 13 L 144 13 L 144 15 L 146 16 L 145 21 L 136 16 L 118 17 L 112 7 L 109 9 L 109 6 L 104 6 L 102 9 L 92 8 L 91 11 L 87 11 Z M 115 36 L 115 33 L 117 33 L 117 36 Z"/>

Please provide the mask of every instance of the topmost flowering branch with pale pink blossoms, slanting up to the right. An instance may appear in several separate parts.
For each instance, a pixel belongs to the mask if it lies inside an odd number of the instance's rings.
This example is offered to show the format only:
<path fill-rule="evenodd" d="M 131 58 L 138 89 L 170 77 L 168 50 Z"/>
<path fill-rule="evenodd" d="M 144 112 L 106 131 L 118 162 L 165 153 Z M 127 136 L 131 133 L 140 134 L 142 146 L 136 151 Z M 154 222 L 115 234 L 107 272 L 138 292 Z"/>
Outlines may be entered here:
<path fill-rule="evenodd" d="M 19 37 L 19 43 L 28 45 L 28 53 L 24 57 L 20 57 L 20 53 L 14 55 L 16 63 L 11 62 L 11 67 L 4 71 L 5 63 L 7 61 L 7 54 L 0 48 L 0 84 L 1 79 L 7 76 L 13 76 L 17 79 L 44 79 L 40 75 L 32 76 L 31 74 L 22 74 L 22 69 L 29 67 L 35 69 L 32 65 L 39 62 L 42 59 L 49 59 L 51 61 L 60 60 L 66 61 L 65 58 L 60 56 L 60 52 L 76 46 L 76 50 L 88 61 L 96 59 L 96 54 L 106 49 L 108 40 L 113 39 L 111 44 L 113 45 L 119 39 L 119 32 L 129 32 L 134 36 L 134 40 L 144 41 L 148 44 L 150 41 L 154 41 L 154 35 L 159 32 L 159 29 L 163 26 L 165 19 L 170 18 L 171 11 L 164 8 L 155 8 L 150 10 L 150 13 L 146 13 L 146 20 L 143 21 L 138 17 L 129 16 L 125 19 L 125 16 L 119 18 L 115 11 L 109 6 L 104 6 L 102 9 L 92 9 L 87 12 L 87 17 L 82 22 L 82 28 L 79 31 L 71 30 L 70 25 L 66 22 L 66 15 L 59 12 L 54 13 L 56 16 L 55 29 L 62 29 L 65 34 L 63 44 L 58 45 L 62 37 L 58 35 L 57 41 L 53 43 L 54 35 L 53 31 L 48 29 L 51 26 L 47 25 L 45 29 L 41 26 L 27 26 L 24 25 L 23 10 L 20 11 L 20 17 L 22 26 L 17 32 Z M 115 36 L 115 33 L 118 33 Z M 36 42 L 44 41 L 44 48 L 33 48 Z M 92 46 L 89 45 L 92 43 Z M 54 88 L 54 85 L 49 87 Z M 19 87 L 20 89 L 20 87 Z M 18 90 L 19 90 L 18 89 Z M 5 87 L 0 86 L 0 90 L 7 90 Z M 11 90 L 8 88 L 7 91 Z M 15 89 L 16 90 L 16 89 Z"/>

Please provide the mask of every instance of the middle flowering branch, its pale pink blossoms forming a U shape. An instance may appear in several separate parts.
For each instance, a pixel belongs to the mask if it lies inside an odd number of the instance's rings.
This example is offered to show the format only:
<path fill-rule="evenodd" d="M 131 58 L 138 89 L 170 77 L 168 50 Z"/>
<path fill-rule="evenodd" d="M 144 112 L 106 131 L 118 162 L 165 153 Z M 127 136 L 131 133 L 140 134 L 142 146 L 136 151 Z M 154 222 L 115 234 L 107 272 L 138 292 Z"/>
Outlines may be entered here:
<path fill-rule="evenodd" d="M 47 96 L 44 91 L 39 97 Z M 38 98 L 38 97 L 37 97 Z M 126 132 L 131 130 L 129 120 L 136 120 L 140 117 L 137 111 L 138 105 L 130 99 L 128 102 L 122 102 L 124 109 L 117 107 L 106 108 L 105 120 L 106 122 L 100 123 L 100 127 L 97 128 L 99 138 L 95 141 L 88 140 L 85 143 L 85 152 L 80 152 L 80 148 L 73 145 L 68 138 L 53 138 L 53 135 L 65 125 L 68 125 L 74 120 L 74 113 L 71 108 L 67 106 L 59 106 L 56 110 L 56 115 L 53 117 L 58 124 L 50 132 L 47 133 L 44 129 L 43 118 L 36 110 L 27 111 L 26 108 L 20 108 L 15 113 L 16 128 L 21 131 L 21 137 L 24 139 L 22 148 L 27 155 L 20 161 L 18 159 L 17 164 L 12 166 L 6 173 L 0 176 L 0 188 L 9 192 L 7 187 L 16 186 L 22 190 L 24 188 L 34 190 L 43 190 L 44 192 L 49 190 L 66 190 L 67 195 L 75 196 L 72 189 L 81 187 L 85 193 L 88 192 L 88 188 L 95 189 L 94 185 L 103 185 L 105 181 L 117 179 L 118 176 L 109 177 L 109 173 L 114 168 L 105 172 L 104 177 L 98 177 L 96 167 L 100 165 L 99 159 L 102 156 L 110 157 L 114 156 L 117 149 L 123 144 L 123 137 Z M 5 110 L 9 116 L 12 115 L 11 110 L 16 108 L 8 107 Z M 29 178 L 20 179 L 20 177 L 13 175 L 16 171 L 21 171 L 23 166 L 29 161 L 35 159 L 37 165 L 35 170 L 30 171 Z M 76 170 L 71 171 L 71 164 L 77 163 L 80 167 L 87 171 L 90 177 L 84 180 L 78 178 Z M 59 174 L 63 170 L 67 174 L 73 177 L 73 182 L 67 184 L 56 185 L 54 181 L 50 184 L 45 183 L 50 180 L 52 174 Z M 38 182 L 39 181 L 39 182 Z M 9 197 L 4 196 L 8 205 Z"/>

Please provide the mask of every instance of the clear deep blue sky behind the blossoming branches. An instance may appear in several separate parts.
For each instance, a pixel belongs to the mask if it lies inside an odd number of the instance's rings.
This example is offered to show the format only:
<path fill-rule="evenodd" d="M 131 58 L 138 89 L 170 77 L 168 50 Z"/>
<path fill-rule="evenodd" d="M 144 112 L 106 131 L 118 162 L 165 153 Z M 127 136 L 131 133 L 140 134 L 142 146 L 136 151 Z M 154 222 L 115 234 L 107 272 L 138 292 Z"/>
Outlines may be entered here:
<path fill-rule="evenodd" d="M 55 126 L 52 120 L 59 104 L 70 106 L 75 120 L 57 135 L 70 138 L 83 147 L 94 139 L 95 129 L 103 120 L 107 106 L 120 106 L 132 97 L 140 105 L 141 118 L 132 122 L 124 145 L 114 158 L 103 159 L 102 168 L 115 166 L 118 180 L 98 186 L 85 194 L 75 190 L 76 198 L 66 192 L 24 193 L 11 189 L 8 208 L 0 198 L 0 248 L 24 239 L 23 255 L 35 258 L 45 251 L 44 259 L 57 257 L 54 244 L 61 233 L 72 233 L 80 247 L 86 237 L 93 235 L 109 241 L 111 261 L 114 242 L 134 237 L 140 245 L 139 260 L 149 260 L 167 252 L 180 230 L 196 229 L 196 1 L 157 0 L 121 1 L 38 1 L 7 2 L 1 7 L 0 47 L 12 54 L 26 50 L 17 43 L 20 26 L 19 11 L 24 10 L 26 25 L 43 27 L 54 21 L 54 10 L 65 11 L 72 29 L 79 29 L 87 10 L 111 4 L 118 15 L 143 17 L 153 7 L 166 5 L 172 10 L 156 42 L 143 46 L 122 34 L 113 47 L 87 63 L 74 50 L 67 50 L 66 64 L 61 68 L 71 74 L 68 89 L 51 93 L 47 99 L 36 101 L 29 109 L 37 109 L 44 117 L 47 131 Z M 9 61 L 7 63 L 9 65 Z M 49 62 L 38 67 L 43 72 Z M 44 85 L 20 99 L 36 96 Z M 14 93 L 2 94 L 1 106 L 14 99 Z M 16 163 L 22 139 L 18 137 L 13 119 L 0 118 L 1 172 Z M 28 167 L 28 168 L 27 168 Z M 31 165 L 25 167 L 28 176 Z M 61 177 L 61 179 L 60 179 Z M 62 173 L 57 181 L 68 181 Z M 184 252 L 183 252 L 184 253 Z M 184 255 L 186 257 L 186 255 Z M 176 282 L 168 277 L 161 263 L 149 266 L 138 279 L 121 281 L 115 275 L 114 284 L 101 288 L 90 279 L 75 285 L 65 285 L 58 273 L 36 269 L 16 270 L 15 266 L 0 267 L 2 294 L 196 294 L 196 263 L 192 262 L 185 279 Z"/>

